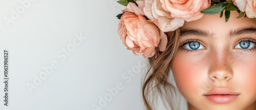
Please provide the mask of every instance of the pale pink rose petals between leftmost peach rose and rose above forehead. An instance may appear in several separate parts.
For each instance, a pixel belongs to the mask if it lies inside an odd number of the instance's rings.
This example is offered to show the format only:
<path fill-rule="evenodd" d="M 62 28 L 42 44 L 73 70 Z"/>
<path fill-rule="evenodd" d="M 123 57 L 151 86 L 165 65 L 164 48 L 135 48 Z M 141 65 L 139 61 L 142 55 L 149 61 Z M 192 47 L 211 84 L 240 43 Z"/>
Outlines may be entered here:
<path fill-rule="evenodd" d="M 145 1 L 143 11 L 145 15 L 151 19 L 153 23 L 156 24 L 163 32 L 174 31 L 184 25 L 183 19 L 171 17 L 170 12 L 167 12 L 162 8 L 162 3 L 160 0 Z"/>

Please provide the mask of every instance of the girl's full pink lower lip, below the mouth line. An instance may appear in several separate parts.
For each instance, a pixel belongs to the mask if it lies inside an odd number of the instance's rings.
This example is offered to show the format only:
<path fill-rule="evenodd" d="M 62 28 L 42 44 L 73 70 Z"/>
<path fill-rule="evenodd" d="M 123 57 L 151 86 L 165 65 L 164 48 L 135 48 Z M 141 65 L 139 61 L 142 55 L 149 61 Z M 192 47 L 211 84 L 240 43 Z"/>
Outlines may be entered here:
<path fill-rule="evenodd" d="M 238 95 L 207 95 L 205 96 L 213 103 L 230 103 L 238 98 Z"/>

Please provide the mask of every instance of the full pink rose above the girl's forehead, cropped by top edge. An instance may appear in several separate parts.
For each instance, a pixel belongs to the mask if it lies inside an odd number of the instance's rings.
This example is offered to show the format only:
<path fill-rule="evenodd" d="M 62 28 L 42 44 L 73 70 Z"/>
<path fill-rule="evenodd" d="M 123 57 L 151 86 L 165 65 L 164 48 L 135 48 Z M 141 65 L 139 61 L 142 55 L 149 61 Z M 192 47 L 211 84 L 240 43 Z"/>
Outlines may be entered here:
<path fill-rule="evenodd" d="M 185 21 L 197 20 L 203 16 L 201 10 L 210 7 L 210 0 L 161 0 L 164 10 L 170 16 L 184 19 Z"/>

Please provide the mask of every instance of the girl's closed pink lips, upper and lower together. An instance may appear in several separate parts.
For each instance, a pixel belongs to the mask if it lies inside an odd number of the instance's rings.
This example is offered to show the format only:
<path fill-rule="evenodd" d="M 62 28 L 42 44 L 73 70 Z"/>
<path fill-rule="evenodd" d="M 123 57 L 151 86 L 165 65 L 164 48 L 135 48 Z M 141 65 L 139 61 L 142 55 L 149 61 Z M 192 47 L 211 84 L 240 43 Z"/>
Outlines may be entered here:
<path fill-rule="evenodd" d="M 239 95 L 229 89 L 212 89 L 204 94 L 205 98 L 212 103 L 230 103 L 236 100 Z"/>

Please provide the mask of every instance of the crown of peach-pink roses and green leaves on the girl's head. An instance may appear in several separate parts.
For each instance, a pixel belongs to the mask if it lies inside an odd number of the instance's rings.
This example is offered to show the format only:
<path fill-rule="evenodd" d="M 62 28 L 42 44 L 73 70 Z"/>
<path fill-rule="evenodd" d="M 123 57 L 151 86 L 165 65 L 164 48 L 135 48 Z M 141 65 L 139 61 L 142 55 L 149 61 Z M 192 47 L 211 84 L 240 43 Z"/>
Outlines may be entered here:
<path fill-rule="evenodd" d="M 175 31 L 185 21 L 200 19 L 205 14 L 236 10 L 240 17 L 256 17 L 256 0 L 120 0 L 126 6 L 120 19 L 118 34 L 122 43 L 135 55 L 157 58 L 167 45 L 164 32 Z"/>

